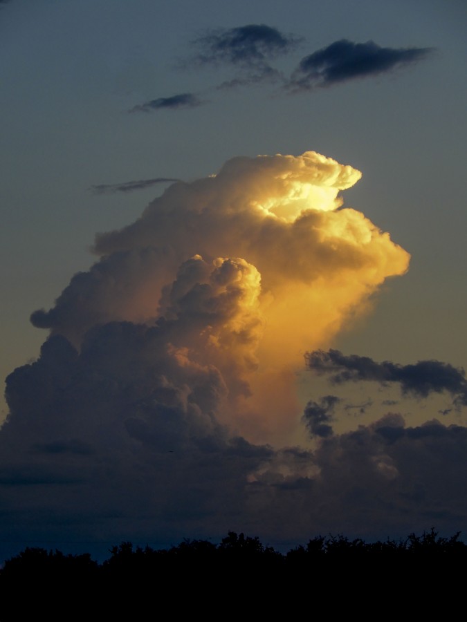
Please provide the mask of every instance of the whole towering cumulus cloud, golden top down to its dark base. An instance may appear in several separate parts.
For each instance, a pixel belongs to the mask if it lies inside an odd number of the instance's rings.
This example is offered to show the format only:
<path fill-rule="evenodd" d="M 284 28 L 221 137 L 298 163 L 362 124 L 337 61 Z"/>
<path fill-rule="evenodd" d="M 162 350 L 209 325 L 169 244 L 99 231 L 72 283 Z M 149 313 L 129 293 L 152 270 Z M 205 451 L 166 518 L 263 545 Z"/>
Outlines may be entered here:
<path fill-rule="evenodd" d="M 314 151 L 233 158 L 98 234 L 98 261 L 31 317 L 39 359 L 7 379 L 7 538 L 278 537 L 316 502 L 295 371 L 409 262 L 342 207 L 359 178 Z"/>

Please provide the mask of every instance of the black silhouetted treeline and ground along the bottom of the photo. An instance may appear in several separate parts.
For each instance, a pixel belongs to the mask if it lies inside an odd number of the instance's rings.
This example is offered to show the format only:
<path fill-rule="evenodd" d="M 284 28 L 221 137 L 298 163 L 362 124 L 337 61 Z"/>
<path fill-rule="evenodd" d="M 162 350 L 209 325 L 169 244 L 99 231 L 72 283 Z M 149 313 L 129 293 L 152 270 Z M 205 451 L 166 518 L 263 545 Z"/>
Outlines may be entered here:
<path fill-rule="evenodd" d="M 230 532 L 219 545 L 184 540 L 154 550 L 121 543 L 104 563 L 28 548 L 0 570 L 0 622 L 187 614 L 464 619 L 467 545 L 459 535 L 441 538 L 432 530 L 377 543 L 319 536 L 280 554 Z"/>

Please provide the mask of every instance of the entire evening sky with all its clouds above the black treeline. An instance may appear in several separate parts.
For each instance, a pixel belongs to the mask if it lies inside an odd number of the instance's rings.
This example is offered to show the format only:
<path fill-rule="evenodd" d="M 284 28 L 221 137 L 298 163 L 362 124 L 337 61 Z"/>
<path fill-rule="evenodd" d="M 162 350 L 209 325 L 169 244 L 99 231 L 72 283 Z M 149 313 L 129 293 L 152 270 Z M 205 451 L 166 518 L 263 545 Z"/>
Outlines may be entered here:
<path fill-rule="evenodd" d="M 466 25 L 0 1 L 0 559 L 467 534 Z"/>

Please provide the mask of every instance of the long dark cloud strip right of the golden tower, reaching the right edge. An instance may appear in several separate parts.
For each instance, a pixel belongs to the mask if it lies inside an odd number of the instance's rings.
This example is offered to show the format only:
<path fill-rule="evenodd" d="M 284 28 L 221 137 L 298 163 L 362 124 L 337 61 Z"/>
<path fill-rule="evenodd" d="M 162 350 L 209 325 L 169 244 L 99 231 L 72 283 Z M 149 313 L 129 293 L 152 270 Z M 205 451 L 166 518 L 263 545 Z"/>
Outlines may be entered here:
<path fill-rule="evenodd" d="M 418 361 L 399 365 L 391 361 L 376 363 L 369 357 L 345 356 L 339 350 L 314 350 L 305 356 L 306 365 L 318 373 L 329 374 L 333 384 L 348 381 L 376 381 L 401 385 L 402 393 L 428 397 L 430 393 L 450 393 L 457 404 L 467 404 L 464 370 L 441 361 Z"/>

